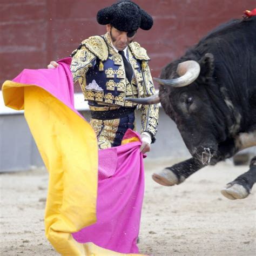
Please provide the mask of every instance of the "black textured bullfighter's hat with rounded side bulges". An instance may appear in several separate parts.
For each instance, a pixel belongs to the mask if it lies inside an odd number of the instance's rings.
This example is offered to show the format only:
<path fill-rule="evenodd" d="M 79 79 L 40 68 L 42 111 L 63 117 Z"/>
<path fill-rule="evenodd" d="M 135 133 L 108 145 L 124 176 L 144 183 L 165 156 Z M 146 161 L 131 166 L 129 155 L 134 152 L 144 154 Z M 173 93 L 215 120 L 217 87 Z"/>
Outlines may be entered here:
<path fill-rule="evenodd" d="M 132 32 L 138 28 L 149 30 L 153 25 L 152 17 L 132 1 L 118 1 L 101 9 L 97 14 L 100 25 L 111 24 L 114 28 Z"/>

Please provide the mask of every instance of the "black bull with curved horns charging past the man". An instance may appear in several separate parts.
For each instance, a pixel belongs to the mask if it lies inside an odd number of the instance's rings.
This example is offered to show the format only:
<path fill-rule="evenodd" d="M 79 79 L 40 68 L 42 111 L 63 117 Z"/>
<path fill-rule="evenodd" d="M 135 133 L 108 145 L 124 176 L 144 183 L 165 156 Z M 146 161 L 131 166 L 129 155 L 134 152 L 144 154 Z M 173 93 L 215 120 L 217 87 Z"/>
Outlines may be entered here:
<path fill-rule="evenodd" d="M 160 102 L 192 158 L 154 173 L 157 183 L 180 184 L 202 167 L 256 146 L 256 16 L 220 25 L 166 65 L 160 78 L 159 95 L 132 101 Z M 256 157 L 221 193 L 245 198 L 255 182 Z"/>

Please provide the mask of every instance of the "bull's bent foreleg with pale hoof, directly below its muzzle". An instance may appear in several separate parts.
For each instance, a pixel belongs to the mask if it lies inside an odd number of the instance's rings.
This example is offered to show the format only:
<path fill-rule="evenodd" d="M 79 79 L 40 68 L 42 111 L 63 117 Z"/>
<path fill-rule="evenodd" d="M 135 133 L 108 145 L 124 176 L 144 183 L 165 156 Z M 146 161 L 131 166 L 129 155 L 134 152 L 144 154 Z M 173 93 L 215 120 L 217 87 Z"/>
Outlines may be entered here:
<path fill-rule="evenodd" d="M 158 173 L 154 173 L 152 179 L 160 185 L 173 186 L 182 183 L 188 176 L 191 176 L 191 174 L 204 166 L 201 161 L 192 157 L 171 167 L 166 167 Z"/>

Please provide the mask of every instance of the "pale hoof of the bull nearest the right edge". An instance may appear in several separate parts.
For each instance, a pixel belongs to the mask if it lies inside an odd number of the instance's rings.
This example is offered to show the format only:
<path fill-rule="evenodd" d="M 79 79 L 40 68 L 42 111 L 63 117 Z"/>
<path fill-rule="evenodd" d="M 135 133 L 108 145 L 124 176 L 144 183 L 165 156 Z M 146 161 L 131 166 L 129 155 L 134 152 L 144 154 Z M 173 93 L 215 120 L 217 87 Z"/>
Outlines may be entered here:
<path fill-rule="evenodd" d="M 235 199 L 244 199 L 248 197 L 250 194 L 246 188 L 244 188 L 242 185 L 238 183 L 230 183 L 227 184 L 223 190 L 220 191 L 221 194 L 223 194 L 224 197 L 235 200 Z"/>

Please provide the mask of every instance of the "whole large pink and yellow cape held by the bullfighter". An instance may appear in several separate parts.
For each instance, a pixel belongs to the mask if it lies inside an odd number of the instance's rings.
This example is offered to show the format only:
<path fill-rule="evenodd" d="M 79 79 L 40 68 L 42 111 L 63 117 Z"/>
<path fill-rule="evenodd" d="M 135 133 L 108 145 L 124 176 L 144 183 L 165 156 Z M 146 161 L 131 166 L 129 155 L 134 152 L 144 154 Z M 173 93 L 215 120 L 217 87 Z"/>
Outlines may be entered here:
<path fill-rule="evenodd" d="M 74 108 L 70 64 L 25 69 L 2 87 L 5 105 L 24 109 L 49 171 L 46 237 L 62 255 L 134 255 L 144 194 L 139 136 L 129 130 L 123 145 L 98 151 Z"/>

